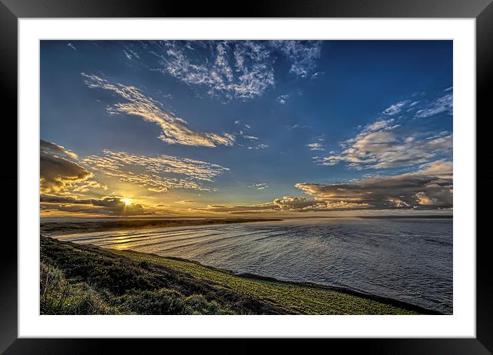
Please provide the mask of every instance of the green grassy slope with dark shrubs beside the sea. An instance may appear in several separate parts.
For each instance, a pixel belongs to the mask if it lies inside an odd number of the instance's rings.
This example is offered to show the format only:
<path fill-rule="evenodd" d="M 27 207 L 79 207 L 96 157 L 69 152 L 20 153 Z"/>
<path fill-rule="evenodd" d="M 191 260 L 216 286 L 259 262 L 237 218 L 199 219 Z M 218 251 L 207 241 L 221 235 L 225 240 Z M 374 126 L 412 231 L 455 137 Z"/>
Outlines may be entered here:
<path fill-rule="evenodd" d="M 41 237 L 41 261 L 62 272 L 77 292 L 90 290 L 98 305 L 91 308 L 94 314 L 426 313 L 417 307 L 328 287 L 238 276 L 191 261 L 45 237 Z M 55 307 L 59 303 L 58 298 L 49 303 L 44 313 L 64 313 L 63 307 Z M 87 313 L 86 308 L 68 308 L 67 313 Z"/>

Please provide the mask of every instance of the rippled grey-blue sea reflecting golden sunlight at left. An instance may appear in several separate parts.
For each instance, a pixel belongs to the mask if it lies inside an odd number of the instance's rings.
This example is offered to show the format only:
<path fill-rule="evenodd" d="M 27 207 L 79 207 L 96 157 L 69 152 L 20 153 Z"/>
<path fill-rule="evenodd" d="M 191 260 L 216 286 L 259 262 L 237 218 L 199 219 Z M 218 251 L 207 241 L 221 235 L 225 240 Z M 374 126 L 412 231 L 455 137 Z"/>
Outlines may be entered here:
<path fill-rule="evenodd" d="M 298 219 L 59 236 L 452 313 L 451 219 Z"/>

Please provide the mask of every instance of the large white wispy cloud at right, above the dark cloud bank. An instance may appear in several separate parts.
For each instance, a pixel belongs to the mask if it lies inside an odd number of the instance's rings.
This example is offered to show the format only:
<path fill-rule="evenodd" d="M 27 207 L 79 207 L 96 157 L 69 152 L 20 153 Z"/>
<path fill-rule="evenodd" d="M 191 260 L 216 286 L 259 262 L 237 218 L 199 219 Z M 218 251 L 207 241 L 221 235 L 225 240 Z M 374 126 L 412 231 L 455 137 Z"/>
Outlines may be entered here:
<path fill-rule="evenodd" d="M 342 150 L 317 157 L 315 163 L 336 165 L 344 162 L 349 168 L 357 170 L 384 169 L 428 163 L 452 156 L 452 133 L 417 130 L 416 125 L 409 125 L 413 117 L 406 116 L 406 112 L 401 114 L 407 108 L 417 110 L 414 118 L 452 114 L 452 93 L 434 101 L 403 100 L 390 105 L 380 112 L 376 121 L 358 127 L 356 136 L 340 143 Z"/>

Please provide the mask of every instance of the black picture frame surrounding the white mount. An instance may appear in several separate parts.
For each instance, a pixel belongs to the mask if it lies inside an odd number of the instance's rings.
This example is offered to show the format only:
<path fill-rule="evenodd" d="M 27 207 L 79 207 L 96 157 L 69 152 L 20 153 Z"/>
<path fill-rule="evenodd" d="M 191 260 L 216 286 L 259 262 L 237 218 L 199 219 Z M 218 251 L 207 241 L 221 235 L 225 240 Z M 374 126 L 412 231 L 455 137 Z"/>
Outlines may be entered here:
<path fill-rule="evenodd" d="M 17 117 L 17 20 L 28 17 L 406 17 L 406 18 L 474 18 L 476 19 L 476 116 L 489 121 L 487 88 L 493 74 L 493 3 L 492 0 L 270 0 L 251 1 L 235 10 L 231 1 L 194 2 L 157 0 L 0 0 L 0 82 L 4 108 Z M 4 111 L 5 112 L 5 111 Z M 5 118 L 5 117 L 4 117 Z M 471 119 L 474 119 L 473 117 Z M 10 121 L 14 121 L 10 119 Z M 476 125 L 477 125 L 476 119 Z M 487 154 L 488 139 L 476 129 L 476 161 Z M 17 146 L 17 125 L 12 125 L 8 139 Z M 481 133 L 482 132 L 482 133 Z M 8 155 L 8 154 L 5 154 Z M 5 156 L 12 168 L 2 169 L 4 186 L 17 185 L 17 155 Z M 483 160 L 484 161 L 484 160 Z M 16 172 L 16 173 L 14 173 Z M 477 172 L 476 172 L 477 174 Z M 477 185 L 490 185 L 492 178 L 480 176 Z M 18 189 L 21 186 L 18 186 Z M 17 201 L 9 189 L 8 201 Z M 485 221 L 486 209 L 476 208 L 476 221 Z M 2 207 L 2 216 L 12 215 L 12 204 Z M 7 210 L 8 208 L 8 210 Z M 481 219 L 481 217 L 484 217 Z M 5 217 L 4 217 L 5 218 Z M 12 218 L 11 218 L 12 219 Z M 484 223 L 484 222 L 483 222 Z M 478 227 L 476 223 L 476 230 Z M 370 354 L 490 354 L 493 352 L 493 286 L 490 274 L 492 244 L 490 234 L 476 237 L 476 338 L 442 339 L 331 339 L 345 351 L 359 349 Z M 463 236 L 464 237 L 464 236 Z M 475 236 L 467 236 L 474 238 Z M 17 336 L 17 241 L 12 234 L 3 235 L 0 258 L 0 352 L 4 354 L 109 354 L 134 352 L 166 343 L 181 347 L 185 340 L 132 339 L 47 339 Z M 246 343 L 248 341 L 241 340 Z M 226 343 L 224 343 L 226 342 Z M 144 344 L 145 343 L 145 344 Z M 285 341 L 290 344 L 291 341 Z M 228 349 L 227 341 L 223 341 Z M 331 344 L 331 345 L 332 345 Z M 312 344 L 313 345 L 313 344 Z M 238 347 L 253 351 L 251 345 Z M 316 346 L 316 345 L 315 345 Z"/>

